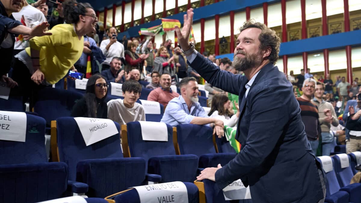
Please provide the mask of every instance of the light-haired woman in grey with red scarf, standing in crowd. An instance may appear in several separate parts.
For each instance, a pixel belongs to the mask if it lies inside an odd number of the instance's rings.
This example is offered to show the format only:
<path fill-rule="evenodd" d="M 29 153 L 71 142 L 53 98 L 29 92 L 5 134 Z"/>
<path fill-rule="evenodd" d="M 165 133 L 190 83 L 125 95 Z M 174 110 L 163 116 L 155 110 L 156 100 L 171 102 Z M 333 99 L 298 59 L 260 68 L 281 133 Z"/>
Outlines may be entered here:
<path fill-rule="evenodd" d="M 169 53 L 167 52 L 167 48 L 162 46 L 158 49 L 156 54 L 156 58 L 154 60 L 154 71 L 159 74 L 168 73 L 171 76 L 175 75 L 174 70 L 174 56 L 169 57 Z"/>

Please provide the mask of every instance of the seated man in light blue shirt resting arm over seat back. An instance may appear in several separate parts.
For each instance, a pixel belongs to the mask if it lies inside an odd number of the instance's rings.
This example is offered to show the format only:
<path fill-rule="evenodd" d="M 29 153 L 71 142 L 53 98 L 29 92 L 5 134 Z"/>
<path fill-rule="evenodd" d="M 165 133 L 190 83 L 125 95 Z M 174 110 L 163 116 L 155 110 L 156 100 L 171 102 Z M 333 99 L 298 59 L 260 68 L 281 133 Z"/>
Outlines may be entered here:
<path fill-rule="evenodd" d="M 171 126 L 196 124 L 214 127 L 213 134 L 223 136 L 223 121 L 209 118 L 198 102 L 198 83 L 195 78 L 183 78 L 179 83 L 181 96 L 173 98 L 165 109 L 161 122 Z"/>

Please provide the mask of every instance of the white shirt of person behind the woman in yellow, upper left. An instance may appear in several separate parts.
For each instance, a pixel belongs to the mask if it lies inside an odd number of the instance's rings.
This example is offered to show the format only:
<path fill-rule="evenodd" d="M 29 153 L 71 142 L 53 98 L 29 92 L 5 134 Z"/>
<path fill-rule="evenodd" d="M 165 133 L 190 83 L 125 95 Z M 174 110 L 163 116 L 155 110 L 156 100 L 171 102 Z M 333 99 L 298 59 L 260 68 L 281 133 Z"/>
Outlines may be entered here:
<path fill-rule="evenodd" d="M 33 28 L 40 23 L 47 21 L 44 14 L 40 10 L 32 7 L 31 5 L 23 7 L 18 13 L 13 13 L 13 17 L 17 21 L 22 22 L 22 16 L 24 16 L 23 22 L 26 24 L 26 27 L 30 28 Z M 16 38 L 14 49 L 25 49 L 26 47 L 29 47 L 29 42 L 22 42 L 21 40 L 18 40 L 18 38 Z"/>

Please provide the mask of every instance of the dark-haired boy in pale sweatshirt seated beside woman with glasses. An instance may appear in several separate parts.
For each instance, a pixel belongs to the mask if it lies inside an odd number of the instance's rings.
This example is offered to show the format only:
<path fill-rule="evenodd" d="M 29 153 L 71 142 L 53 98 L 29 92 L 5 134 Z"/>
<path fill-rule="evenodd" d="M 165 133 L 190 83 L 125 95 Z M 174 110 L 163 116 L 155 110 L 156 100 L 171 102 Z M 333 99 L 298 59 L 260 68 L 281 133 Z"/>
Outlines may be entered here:
<path fill-rule="evenodd" d="M 131 121 L 145 121 L 145 112 L 139 99 L 142 86 L 135 80 L 129 80 L 122 86 L 124 99 L 113 99 L 108 102 L 108 118 L 120 125 Z"/>

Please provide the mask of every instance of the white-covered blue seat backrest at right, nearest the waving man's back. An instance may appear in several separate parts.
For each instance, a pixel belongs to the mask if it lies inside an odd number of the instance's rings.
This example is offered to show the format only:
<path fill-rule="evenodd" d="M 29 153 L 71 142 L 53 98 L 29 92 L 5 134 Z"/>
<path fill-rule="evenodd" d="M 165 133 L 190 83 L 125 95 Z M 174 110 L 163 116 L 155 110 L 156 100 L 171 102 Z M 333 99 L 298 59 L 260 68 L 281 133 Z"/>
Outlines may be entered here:
<path fill-rule="evenodd" d="M 340 184 L 337 180 L 336 173 L 335 173 L 334 161 L 331 159 L 330 156 L 320 156 L 320 157 L 316 157 L 316 159 L 319 161 L 319 163 L 322 164 L 322 168 L 326 173 L 326 179 L 327 179 L 326 196 L 330 196 L 340 190 Z M 329 165 L 329 164 L 331 164 L 331 165 Z M 323 167 L 326 165 L 328 167 Z M 331 168 L 331 166 L 332 166 L 332 168 Z"/>

